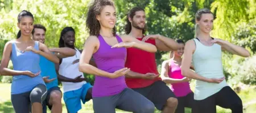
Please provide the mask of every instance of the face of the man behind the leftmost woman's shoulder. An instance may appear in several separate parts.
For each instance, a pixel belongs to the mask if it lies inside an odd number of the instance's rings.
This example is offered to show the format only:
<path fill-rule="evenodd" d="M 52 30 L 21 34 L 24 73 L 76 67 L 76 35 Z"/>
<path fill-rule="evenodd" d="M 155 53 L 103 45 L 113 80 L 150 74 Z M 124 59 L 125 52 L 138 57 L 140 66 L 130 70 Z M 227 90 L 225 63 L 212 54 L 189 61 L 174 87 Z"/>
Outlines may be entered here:
<path fill-rule="evenodd" d="M 44 29 L 35 28 L 34 31 L 35 32 L 33 34 L 33 40 L 39 41 L 44 44 L 44 41 L 46 39 L 46 32 L 44 31 Z"/>

